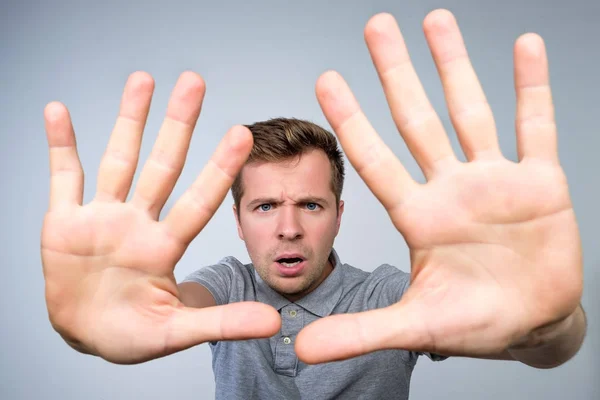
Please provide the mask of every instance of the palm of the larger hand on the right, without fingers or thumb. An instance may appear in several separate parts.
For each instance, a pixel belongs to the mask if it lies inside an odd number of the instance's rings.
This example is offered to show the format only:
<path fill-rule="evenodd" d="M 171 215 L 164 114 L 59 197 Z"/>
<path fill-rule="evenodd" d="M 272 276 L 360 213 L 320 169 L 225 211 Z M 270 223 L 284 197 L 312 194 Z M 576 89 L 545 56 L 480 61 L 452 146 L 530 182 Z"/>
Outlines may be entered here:
<path fill-rule="evenodd" d="M 581 250 L 559 168 L 474 162 L 421 189 L 390 213 L 411 251 L 398 305 L 416 347 L 500 353 L 577 306 Z"/>

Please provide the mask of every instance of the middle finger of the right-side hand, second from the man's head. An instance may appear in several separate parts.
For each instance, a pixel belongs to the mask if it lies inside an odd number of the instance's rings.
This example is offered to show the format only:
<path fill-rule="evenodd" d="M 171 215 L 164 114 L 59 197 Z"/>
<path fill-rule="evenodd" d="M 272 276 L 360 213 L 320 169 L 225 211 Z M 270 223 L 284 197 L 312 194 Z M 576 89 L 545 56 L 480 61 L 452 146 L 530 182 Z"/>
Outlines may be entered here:
<path fill-rule="evenodd" d="M 365 40 L 396 127 L 425 177 L 441 160 L 456 161 L 448 136 L 417 76 L 394 17 L 379 14 L 365 28 Z"/>

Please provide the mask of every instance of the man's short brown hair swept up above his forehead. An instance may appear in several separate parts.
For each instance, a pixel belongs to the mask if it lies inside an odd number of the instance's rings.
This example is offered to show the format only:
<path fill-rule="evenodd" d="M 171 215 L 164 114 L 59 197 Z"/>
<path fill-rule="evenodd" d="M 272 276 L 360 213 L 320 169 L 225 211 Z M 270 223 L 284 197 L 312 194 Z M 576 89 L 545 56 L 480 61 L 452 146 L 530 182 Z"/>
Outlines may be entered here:
<path fill-rule="evenodd" d="M 344 186 L 344 159 L 331 132 L 312 122 L 296 118 L 273 118 L 245 126 L 250 129 L 254 138 L 246 164 L 281 162 L 310 150 L 322 150 L 331 163 L 331 190 L 339 204 Z M 238 214 L 244 194 L 242 171 L 231 186 Z"/>

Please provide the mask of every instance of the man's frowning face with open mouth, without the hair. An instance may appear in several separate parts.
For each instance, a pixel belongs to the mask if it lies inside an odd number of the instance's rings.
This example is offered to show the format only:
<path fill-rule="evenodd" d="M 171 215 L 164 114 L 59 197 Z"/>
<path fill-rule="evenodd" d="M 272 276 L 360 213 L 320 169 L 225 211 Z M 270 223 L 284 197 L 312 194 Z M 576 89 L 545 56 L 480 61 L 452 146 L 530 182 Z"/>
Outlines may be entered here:
<path fill-rule="evenodd" d="M 344 203 L 336 206 L 331 164 L 321 150 L 280 163 L 244 166 L 240 238 L 254 268 L 291 301 L 314 290 L 332 270 L 328 261 Z"/>

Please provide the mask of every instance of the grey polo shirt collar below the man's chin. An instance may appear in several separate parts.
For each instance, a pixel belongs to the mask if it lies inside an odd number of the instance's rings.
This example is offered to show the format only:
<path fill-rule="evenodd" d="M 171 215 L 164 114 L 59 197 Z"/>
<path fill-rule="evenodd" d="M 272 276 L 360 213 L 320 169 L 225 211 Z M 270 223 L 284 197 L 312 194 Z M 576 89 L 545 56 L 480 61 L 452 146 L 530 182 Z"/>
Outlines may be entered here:
<path fill-rule="evenodd" d="M 295 304 L 319 317 L 330 315 L 342 296 L 343 265 L 334 249 L 331 249 L 329 261 L 333 265 L 333 271 L 329 276 L 315 290 L 295 302 Z M 288 299 L 271 289 L 256 270 L 254 270 L 254 277 L 256 279 L 256 297 L 258 301 L 269 304 L 278 311 L 291 304 Z"/>

